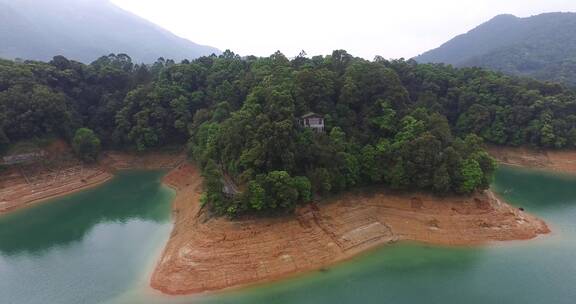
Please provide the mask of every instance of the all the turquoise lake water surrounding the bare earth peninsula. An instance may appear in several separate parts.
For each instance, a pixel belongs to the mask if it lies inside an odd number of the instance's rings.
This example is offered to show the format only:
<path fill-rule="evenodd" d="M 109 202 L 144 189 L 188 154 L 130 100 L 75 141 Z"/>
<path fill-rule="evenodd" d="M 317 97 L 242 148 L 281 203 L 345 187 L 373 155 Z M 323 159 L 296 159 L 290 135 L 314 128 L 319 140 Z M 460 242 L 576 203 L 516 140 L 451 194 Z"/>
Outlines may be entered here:
<path fill-rule="evenodd" d="M 0 218 L 0 303 L 576 301 L 574 177 L 499 170 L 493 189 L 551 226 L 551 235 L 536 240 L 480 248 L 400 243 L 279 283 L 166 297 L 146 287 L 170 230 L 172 193 L 159 176 L 123 174 L 103 187 Z"/>

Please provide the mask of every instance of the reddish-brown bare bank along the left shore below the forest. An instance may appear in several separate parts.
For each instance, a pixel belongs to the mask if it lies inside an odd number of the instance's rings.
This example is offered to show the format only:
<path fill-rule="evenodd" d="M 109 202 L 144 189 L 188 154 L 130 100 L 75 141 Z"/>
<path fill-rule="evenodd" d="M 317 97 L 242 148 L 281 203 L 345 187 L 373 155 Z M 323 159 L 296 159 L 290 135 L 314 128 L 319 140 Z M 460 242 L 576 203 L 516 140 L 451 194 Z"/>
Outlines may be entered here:
<path fill-rule="evenodd" d="M 47 153 L 50 158 L 69 153 L 69 148 L 56 142 Z M 174 168 L 184 160 L 183 154 L 175 153 L 107 152 L 98 165 L 87 166 L 68 156 L 46 161 L 50 164 L 14 166 L 0 173 L 0 214 L 99 185 L 116 170 Z"/>

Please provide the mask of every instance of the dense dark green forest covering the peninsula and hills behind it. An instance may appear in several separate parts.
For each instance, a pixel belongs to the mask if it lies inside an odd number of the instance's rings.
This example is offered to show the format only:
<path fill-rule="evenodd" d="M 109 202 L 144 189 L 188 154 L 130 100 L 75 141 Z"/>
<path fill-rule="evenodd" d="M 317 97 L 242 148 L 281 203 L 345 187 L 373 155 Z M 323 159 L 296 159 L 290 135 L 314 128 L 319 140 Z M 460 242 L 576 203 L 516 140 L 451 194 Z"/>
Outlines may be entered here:
<path fill-rule="evenodd" d="M 0 150 L 46 136 L 79 151 L 187 145 L 203 168 L 203 203 L 227 215 L 291 210 L 367 185 L 468 194 L 495 170 L 483 142 L 575 148 L 574 97 L 479 68 L 342 50 L 152 65 L 123 54 L 89 65 L 2 60 Z M 324 132 L 300 125 L 309 112 L 322 115 Z M 224 181 L 239 193 L 225 195 Z"/>

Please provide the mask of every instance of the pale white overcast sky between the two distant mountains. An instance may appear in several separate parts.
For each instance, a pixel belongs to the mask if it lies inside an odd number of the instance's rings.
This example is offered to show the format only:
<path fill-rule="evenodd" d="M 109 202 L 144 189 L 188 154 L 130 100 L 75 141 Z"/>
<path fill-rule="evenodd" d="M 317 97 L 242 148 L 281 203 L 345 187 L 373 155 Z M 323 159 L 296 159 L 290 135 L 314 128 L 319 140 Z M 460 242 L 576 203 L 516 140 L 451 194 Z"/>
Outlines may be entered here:
<path fill-rule="evenodd" d="M 575 0 L 111 0 L 196 43 L 241 55 L 345 49 L 411 58 L 498 14 L 576 11 Z"/>

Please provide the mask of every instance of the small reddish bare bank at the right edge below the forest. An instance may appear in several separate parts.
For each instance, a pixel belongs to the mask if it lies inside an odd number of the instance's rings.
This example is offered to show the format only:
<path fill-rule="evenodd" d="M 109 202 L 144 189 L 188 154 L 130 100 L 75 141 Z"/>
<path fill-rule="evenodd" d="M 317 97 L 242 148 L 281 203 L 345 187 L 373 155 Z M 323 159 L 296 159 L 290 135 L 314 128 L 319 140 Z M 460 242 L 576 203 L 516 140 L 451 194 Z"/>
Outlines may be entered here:
<path fill-rule="evenodd" d="M 576 173 L 576 151 L 549 151 L 529 148 L 488 147 L 500 163 L 531 169 Z"/>

